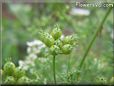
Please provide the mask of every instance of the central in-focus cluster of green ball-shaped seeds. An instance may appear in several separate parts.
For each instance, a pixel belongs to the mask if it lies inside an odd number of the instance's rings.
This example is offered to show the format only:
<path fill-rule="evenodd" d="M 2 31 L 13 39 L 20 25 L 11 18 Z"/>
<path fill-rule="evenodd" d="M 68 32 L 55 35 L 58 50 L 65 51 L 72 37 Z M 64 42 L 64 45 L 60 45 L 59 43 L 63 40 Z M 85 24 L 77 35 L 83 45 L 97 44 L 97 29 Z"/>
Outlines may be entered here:
<path fill-rule="evenodd" d="M 40 40 L 49 48 L 53 55 L 70 54 L 77 42 L 76 35 L 66 36 L 61 39 L 62 31 L 58 25 L 50 33 L 40 31 L 39 34 Z"/>

